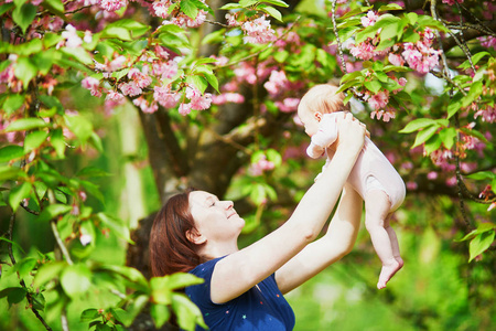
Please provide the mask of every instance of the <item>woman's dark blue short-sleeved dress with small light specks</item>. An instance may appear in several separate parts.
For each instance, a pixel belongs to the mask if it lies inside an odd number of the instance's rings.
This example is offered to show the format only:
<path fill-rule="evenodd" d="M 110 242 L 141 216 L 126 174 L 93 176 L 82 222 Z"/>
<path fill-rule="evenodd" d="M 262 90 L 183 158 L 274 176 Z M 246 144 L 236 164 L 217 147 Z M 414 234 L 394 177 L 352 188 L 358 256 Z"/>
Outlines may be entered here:
<path fill-rule="evenodd" d="M 293 310 L 279 290 L 273 274 L 228 302 L 212 302 L 212 274 L 222 258 L 212 259 L 191 270 L 191 274 L 205 279 L 205 282 L 185 289 L 212 331 L 287 331 L 294 328 Z M 204 329 L 197 327 L 196 330 Z"/>

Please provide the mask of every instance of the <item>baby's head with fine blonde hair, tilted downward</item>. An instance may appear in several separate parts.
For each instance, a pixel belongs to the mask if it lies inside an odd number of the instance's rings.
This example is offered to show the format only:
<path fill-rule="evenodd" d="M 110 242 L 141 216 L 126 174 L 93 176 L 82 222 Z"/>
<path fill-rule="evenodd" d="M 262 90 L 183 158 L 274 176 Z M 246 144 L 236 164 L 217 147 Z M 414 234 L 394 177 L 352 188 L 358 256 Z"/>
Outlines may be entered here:
<path fill-rule="evenodd" d="M 349 111 L 349 104 L 344 105 L 344 93 L 332 84 L 320 84 L 309 89 L 301 98 L 298 106 L 298 116 L 305 126 L 305 132 L 310 137 L 316 134 L 322 115 L 335 111 Z"/>

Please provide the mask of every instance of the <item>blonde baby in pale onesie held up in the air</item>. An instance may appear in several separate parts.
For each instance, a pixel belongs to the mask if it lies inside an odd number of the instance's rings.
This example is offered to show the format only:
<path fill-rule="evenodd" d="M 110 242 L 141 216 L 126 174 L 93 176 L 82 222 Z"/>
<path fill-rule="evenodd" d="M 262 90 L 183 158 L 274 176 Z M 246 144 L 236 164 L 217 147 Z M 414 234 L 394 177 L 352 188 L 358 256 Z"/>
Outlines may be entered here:
<path fill-rule="evenodd" d="M 298 116 L 311 137 L 306 153 L 311 158 L 326 154 L 327 167 L 334 156 L 337 139 L 336 118 L 348 111 L 343 105 L 344 94 L 337 87 L 322 84 L 312 87 L 298 106 Z M 315 180 L 319 179 L 315 178 Z M 382 263 L 377 288 L 386 287 L 389 279 L 403 266 L 398 238 L 389 226 L 389 220 L 405 200 L 405 183 L 392 164 L 366 137 L 364 148 L 352 169 L 348 182 L 365 201 L 365 226 L 370 234 L 374 249 Z"/>

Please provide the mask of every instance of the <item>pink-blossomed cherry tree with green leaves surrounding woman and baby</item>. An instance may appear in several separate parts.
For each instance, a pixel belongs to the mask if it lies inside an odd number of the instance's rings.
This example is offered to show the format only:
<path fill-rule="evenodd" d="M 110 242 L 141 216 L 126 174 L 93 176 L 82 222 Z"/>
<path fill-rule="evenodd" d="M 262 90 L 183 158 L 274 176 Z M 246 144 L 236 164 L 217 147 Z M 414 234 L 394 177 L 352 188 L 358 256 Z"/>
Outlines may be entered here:
<path fill-rule="evenodd" d="M 269 222 L 271 209 L 289 213 L 312 182 L 316 163 L 304 157 L 308 138 L 295 110 L 309 87 L 326 82 L 347 94 L 410 196 L 457 203 L 456 233 L 470 243 L 468 259 L 494 249 L 496 3 L 315 6 L 309 12 L 282 0 L 2 1 L 0 181 L 11 216 L 0 239 L 20 285 L 0 297 L 26 300 L 47 330 L 44 310 L 68 329 L 69 303 L 112 279 L 117 287 L 104 286 L 111 303 L 83 311 L 83 321 L 118 330 L 147 308 L 159 328 L 175 314 L 181 328 L 194 330 L 203 323 L 200 310 L 176 290 L 198 279 L 149 279 L 145 250 L 130 254 L 130 266 L 78 255 L 98 245 L 96 232 L 133 245 L 147 242 L 147 231 L 131 239 L 123 220 L 87 202 L 104 200 L 101 170 L 72 173 L 64 164 L 75 153 L 104 152 L 96 114 L 118 116 L 132 105 L 161 201 L 190 185 L 230 194 L 249 215 L 250 233 Z M 68 88 L 98 106 L 75 108 Z M 15 252 L 19 213 L 50 224 L 56 254 Z"/>

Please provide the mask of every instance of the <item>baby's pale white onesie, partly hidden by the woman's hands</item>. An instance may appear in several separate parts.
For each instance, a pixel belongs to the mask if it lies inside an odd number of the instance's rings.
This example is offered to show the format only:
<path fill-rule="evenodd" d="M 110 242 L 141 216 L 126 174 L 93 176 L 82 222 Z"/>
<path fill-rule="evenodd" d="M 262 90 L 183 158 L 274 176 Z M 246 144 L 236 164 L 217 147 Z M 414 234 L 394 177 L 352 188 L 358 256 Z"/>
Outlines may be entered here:
<path fill-rule="evenodd" d="M 319 122 L 319 131 L 312 136 L 306 149 L 306 153 L 313 159 L 326 154 L 327 160 L 322 170 L 328 166 L 335 152 L 328 147 L 337 139 L 336 117 L 339 115 L 343 116 L 343 111 L 324 114 Z M 396 211 L 405 200 L 403 180 L 368 137 L 365 137 L 364 148 L 349 173 L 348 182 L 364 200 L 370 190 L 384 191 L 391 202 L 390 212 Z"/>

